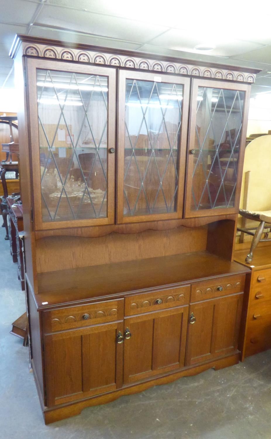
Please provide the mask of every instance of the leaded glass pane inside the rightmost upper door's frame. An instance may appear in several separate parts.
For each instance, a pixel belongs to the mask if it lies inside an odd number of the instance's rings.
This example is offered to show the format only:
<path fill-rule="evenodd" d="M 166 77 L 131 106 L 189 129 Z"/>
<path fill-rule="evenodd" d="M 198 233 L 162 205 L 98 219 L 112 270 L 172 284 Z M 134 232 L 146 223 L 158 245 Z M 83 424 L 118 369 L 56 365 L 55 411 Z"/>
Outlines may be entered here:
<path fill-rule="evenodd" d="M 199 87 L 191 209 L 233 207 L 244 91 Z"/>

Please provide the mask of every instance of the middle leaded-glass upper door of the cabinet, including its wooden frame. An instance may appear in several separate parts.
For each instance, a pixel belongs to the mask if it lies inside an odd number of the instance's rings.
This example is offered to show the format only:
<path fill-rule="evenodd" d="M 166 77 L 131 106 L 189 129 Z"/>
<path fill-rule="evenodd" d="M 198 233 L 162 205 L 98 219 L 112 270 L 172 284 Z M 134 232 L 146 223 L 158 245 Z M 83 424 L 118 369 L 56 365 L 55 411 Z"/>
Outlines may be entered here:
<path fill-rule="evenodd" d="M 118 223 L 182 218 L 189 87 L 119 72 Z"/>

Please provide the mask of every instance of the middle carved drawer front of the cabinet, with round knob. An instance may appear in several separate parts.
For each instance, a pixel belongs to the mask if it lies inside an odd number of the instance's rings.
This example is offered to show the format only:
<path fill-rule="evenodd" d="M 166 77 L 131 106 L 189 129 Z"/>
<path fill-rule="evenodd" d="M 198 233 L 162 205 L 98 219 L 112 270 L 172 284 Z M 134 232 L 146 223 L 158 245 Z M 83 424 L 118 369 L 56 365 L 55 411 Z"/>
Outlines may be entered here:
<path fill-rule="evenodd" d="M 189 303 L 190 285 L 125 298 L 125 316 L 148 313 Z"/>

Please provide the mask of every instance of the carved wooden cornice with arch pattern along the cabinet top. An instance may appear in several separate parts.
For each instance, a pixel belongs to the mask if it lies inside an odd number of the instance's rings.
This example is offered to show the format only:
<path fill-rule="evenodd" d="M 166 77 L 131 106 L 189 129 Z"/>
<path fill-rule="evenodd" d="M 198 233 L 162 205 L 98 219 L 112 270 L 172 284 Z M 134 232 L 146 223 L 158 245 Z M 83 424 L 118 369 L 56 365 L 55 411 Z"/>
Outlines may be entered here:
<path fill-rule="evenodd" d="M 255 69 L 215 65 L 202 62 L 196 65 L 194 61 L 179 58 L 155 56 L 139 52 L 113 50 L 105 47 L 88 46 L 85 44 L 61 43 L 56 40 L 38 39 L 35 37 L 18 36 L 22 43 L 23 54 L 29 57 L 58 59 L 94 65 L 106 65 L 159 73 L 171 73 L 193 77 L 224 79 L 245 83 L 254 83 L 258 72 Z M 67 47 L 68 46 L 68 47 Z M 18 49 L 18 42 L 14 44 Z M 16 51 L 11 49 L 11 56 Z M 145 58 L 146 56 L 146 58 Z"/>

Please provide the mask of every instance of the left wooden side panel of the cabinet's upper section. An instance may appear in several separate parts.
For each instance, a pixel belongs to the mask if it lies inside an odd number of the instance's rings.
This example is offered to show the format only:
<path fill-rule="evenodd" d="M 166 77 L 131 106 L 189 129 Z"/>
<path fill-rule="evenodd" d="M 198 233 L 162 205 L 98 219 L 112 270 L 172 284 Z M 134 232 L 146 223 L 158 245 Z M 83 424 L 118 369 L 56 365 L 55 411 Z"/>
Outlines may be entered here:
<path fill-rule="evenodd" d="M 29 282 L 32 288 L 37 292 L 36 279 L 36 252 L 35 252 L 35 238 L 32 232 L 31 223 L 31 208 L 32 208 L 32 185 L 30 177 L 30 162 L 29 162 L 29 121 L 27 115 L 26 104 L 26 86 L 24 83 L 24 59 L 22 58 L 21 49 L 14 60 L 15 86 L 17 93 L 18 105 L 18 138 L 20 151 L 20 190 L 21 199 L 23 203 L 23 218 L 24 218 L 24 232 L 25 232 L 25 270 L 28 275 Z"/>

